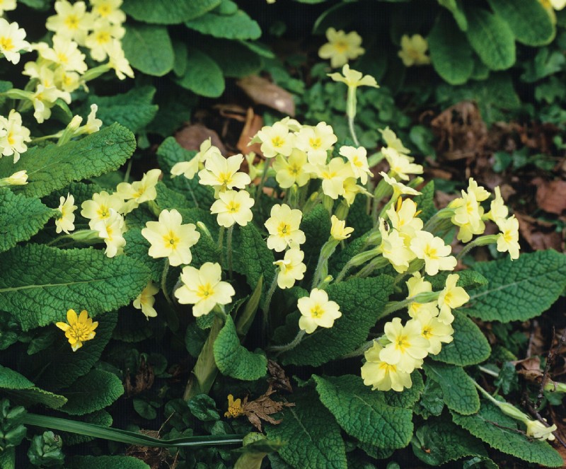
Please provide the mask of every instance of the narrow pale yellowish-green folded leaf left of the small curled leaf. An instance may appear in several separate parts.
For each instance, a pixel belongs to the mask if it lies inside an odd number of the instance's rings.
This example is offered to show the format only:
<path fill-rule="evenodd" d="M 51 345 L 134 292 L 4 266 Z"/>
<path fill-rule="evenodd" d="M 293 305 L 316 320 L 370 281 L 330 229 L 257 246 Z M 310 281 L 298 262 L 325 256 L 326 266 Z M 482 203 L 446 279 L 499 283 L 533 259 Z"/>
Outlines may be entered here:
<path fill-rule="evenodd" d="M 224 314 L 224 311 L 221 311 L 219 306 L 216 305 L 214 313 L 217 314 L 214 315 L 207 341 L 204 342 L 197 363 L 190 372 L 190 378 L 185 387 L 185 393 L 183 393 L 184 400 L 190 400 L 198 394 L 208 394 L 218 374 L 216 361 L 214 361 L 214 341 L 224 325 L 224 319 L 220 314 Z M 226 317 L 226 314 L 224 314 L 224 317 Z"/>

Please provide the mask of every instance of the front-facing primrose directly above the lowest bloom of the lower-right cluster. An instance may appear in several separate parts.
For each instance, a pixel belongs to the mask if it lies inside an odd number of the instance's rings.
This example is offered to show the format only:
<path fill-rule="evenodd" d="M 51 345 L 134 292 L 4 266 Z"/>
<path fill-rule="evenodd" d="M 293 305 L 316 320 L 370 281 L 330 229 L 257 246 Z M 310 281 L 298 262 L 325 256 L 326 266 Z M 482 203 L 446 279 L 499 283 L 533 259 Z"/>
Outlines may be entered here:
<path fill-rule="evenodd" d="M 382 361 L 396 365 L 406 373 L 422 366 L 422 359 L 427 356 L 430 343 L 422 337 L 419 321 L 411 319 L 403 326 L 400 318 L 393 318 L 383 326 L 383 332 L 391 343 L 379 352 Z"/>

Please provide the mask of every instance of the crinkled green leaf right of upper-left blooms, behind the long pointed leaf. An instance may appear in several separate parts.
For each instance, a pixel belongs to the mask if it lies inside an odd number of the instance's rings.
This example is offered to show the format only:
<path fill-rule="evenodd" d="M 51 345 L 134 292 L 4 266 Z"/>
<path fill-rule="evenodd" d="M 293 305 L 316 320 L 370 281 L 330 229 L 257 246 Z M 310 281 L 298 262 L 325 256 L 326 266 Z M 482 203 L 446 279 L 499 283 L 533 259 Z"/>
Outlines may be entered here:
<path fill-rule="evenodd" d="M 139 86 L 127 93 L 112 96 L 88 95 L 86 106 L 98 105 L 96 117 L 105 125 L 113 122 L 127 127 L 132 132 L 144 129 L 154 119 L 158 105 L 151 104 L 156 88 L 153 86 Z"/>

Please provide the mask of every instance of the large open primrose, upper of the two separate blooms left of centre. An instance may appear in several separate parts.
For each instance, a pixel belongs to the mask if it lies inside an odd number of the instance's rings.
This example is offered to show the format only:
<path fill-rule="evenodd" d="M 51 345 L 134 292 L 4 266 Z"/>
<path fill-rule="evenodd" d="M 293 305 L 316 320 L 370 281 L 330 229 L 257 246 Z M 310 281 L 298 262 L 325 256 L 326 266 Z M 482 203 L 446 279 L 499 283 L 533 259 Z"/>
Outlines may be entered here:
<path fill-rule="evenodd" d="M 190 248 L 199 241 L 200 233 L 195 224 L 183 225 L 183 217 L 173 209 L 162 210 L 159 221 L 148 221 L 141 236 L 146 238 L 151 247 L 149 255 L 154 258 L 167 257 L 169 264 L 176 266 L 190 264 Z"/>

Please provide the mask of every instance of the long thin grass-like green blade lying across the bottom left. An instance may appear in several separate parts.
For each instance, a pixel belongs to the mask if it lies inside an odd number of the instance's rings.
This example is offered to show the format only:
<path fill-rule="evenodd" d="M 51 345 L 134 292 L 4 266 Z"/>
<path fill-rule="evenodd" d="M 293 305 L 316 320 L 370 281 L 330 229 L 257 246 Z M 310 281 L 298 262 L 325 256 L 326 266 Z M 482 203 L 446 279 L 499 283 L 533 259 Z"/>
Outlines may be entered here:
<path fill-rule="evenodd" d="M 117 441 L 130 445 L 151 446 L 154 448 L 199 448 L 201 446 L 216 446 L 220 444 L 241 444 L 243 439 L 243 435 L 185 436 L 183 438 L 170 440 L 156 439 L 141 433 L 128 432 L 127 430 L 29 413 L 23 417 L 23 424 L 50 428 L 58 430 L 59 432 L 71 432 L 85 436 L 93 436 L 94 438 Z"/>

